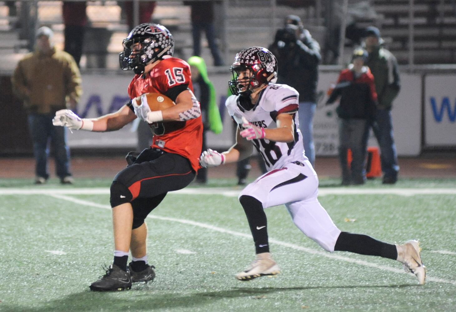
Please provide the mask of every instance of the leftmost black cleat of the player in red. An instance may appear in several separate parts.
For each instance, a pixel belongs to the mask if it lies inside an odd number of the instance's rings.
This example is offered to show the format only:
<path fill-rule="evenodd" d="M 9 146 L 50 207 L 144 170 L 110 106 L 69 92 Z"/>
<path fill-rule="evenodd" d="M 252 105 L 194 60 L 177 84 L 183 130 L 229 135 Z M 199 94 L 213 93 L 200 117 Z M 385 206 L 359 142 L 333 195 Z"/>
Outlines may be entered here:
<path fill-rule="evenodd" d="M 131 289 L 131 276 L 127 270 L 121 270 L 117 265 L 109 265 L 106 274 L 90 285 L 91 291 L 123 291 Z"/>

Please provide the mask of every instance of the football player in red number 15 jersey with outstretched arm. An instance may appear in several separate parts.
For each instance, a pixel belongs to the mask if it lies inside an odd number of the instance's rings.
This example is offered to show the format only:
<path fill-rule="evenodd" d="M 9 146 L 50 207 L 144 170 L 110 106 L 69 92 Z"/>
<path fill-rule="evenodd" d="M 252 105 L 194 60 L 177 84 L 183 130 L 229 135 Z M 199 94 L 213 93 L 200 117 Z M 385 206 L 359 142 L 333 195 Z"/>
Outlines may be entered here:
<path fill-rule="evenodd" d="M 192 182 L 202 146 L 201 113 L 192 92 L 190 67 L 172 57 L 174 40 L 168 29 L 154 23 L 141 24 L 124 39 L 123 45 L 120 67 L 133 69 L 136 74 L 128 87 L 132 101 L 118 112 L 99 118 L 81 119 L 63 109 L 53 120 L 54 125 L 70 129 L 103 132 L 119 130 L 140 118 L 154 132 L 152 146 L 130 158 L 132 163 L 111 184 L 114 263 L 106 275 L 90 285 L 93 291 L 130 289 L 132 282 L 154 279 L 154 267 L 147 264 L 144 219 L 167 192 Z M 142 100 L 143 94 L 151 92 L 168 96 L 176 105 L 151 111 Z M 141 99 L 139 105 L 137 97 Z M 129 250 L 133 259 L 127 268 Z"/>

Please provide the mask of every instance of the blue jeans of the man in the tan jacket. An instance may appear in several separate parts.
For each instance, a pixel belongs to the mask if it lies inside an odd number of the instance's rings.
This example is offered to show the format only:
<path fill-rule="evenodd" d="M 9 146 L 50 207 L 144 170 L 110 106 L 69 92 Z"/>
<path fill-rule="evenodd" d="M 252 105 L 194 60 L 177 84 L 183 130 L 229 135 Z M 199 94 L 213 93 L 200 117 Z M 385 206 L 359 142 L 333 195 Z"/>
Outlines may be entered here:
<path fill-rule="evenodd" d="M 33 154 L 36 160 L 35 174 L 37 177 L 49 177 L 47 157 L 49 156 L 49 141 L 54 146 L 56 173 L 63 179 L 71 176 L 70 150 L 67 146 L 66 128 L 52 125 L 54 114 L 30 114 L 28 116 L 29 130 L 33 141 Z"/>

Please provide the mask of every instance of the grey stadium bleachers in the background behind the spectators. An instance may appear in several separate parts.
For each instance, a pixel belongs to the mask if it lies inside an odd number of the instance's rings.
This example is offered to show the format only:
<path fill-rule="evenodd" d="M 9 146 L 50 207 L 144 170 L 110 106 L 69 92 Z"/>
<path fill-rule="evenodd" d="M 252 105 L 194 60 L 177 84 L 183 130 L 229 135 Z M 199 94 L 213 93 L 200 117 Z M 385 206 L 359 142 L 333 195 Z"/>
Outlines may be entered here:
<path fill-rule="evenodd" d="M 225 57 L 244 47 L 246 42 L 249 42 L 249 45 L 267 46 L 273 40 L 275 29 L 282 26 L 285 16 L 290 13 L 301 16 L 306 28 L 321 43 L 322 48 L 325 48 L 328 27 L 325 27 L 326 12 L 323 1 L 306 0 L 297 4 L 296 1 L 276 0 L 275 10 L 271 10 L 271 1 L 226 2 L 225 8 L 228 10 L 225 12 L 223 4 L 219 4 L 220 10 L 217 12 L 218 17 L 223 20 L 223 23 L 218 25 L 218 33 L 222 38 L 220 46 Z M 20 17 L 10 16 L 10 7 L 6 4 L 6 1 L 0 2 L 0 54 L 14 60 L 17 57 L 12 57 L 11 54 L 26 52 L 28 41 L 24 33 L 16 27 L 20 25 Z M 363 6 L 368 6 L 370 13 L 362 15 L 352 12 Z M 57 45 L 63 46 L 62 1 L 38 1 L 37 8 L 38 24 L 52 26 L 56 31 Z M 320 16 L 317 16 L 317 9 Z M 99 65 L 96 59 L 93 59 L 96 53 L 93 52 L 90 42 L 94 37 L 99 38 L 99 33 L 95 32 L 103 28 L 105 31 L 102 34 L 109 36 L 109 40 L 105 43 L 107 46 L 102 48 L 106 50 L 106 62 L 102 62 L 102 65 L 117 68 L 117 54 L 121 49 L 119 42 L 128 33 L 117 1 L 88 1 L 87 14 L 91 27 L 88 29 L 87 47 L 84 50 L 86 57 L 83 57 L 82 67 Z M 378 26 L 387 47 L 397 56 L 399 63 L 408 62 L 409 0 L 350 0 L 349 14 L 360 27 Z M 153 20 L 168 26 L 172 31 L 178 55 L 184 58 L 191 55 L 192 36 L 188 6 L 182 5 L 182 1 L 158 1 Z M 247 26 L 246 20 L 249 20 Z M 454 1 L 415 0 L 413 23 L 415 64 L 456 62 Z M 227 51 L 224 50 L 225 42 Z M 203 53 L 203 57 L 210 58 L 207 49 L 203 49 Z M 8 67 L 7 64 L 3 66 Z"/>

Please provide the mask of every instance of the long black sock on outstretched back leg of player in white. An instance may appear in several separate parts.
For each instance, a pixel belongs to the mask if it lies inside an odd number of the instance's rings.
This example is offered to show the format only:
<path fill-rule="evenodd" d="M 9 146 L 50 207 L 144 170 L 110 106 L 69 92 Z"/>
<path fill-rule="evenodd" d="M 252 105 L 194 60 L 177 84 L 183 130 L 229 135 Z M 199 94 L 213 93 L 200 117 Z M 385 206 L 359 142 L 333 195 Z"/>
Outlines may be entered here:
<path fill-rule="evenodd" d="M 350 251 L 360 255 L 375 255 L 396 260 L 396 245 L 381 242 L 368 235 L 341 232 L 337 238 L 334 251 Z"/>

